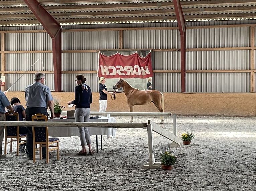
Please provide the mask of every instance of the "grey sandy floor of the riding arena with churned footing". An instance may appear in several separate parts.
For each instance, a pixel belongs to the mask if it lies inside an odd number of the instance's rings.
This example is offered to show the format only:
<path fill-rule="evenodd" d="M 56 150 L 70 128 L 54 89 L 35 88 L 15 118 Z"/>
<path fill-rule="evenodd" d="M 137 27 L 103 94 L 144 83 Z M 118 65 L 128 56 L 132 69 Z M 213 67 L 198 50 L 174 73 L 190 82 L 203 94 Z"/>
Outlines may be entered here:
<path fill-rule="evenodd" d="M 160 123 L 160 118 L 150 118 Z M 129 122 L 130 117 L 115 117 Z M 148 117 L 134 117 L 147 122 Z M 194 128 L 191 145 L 172 148 L 178 161 L 170 171 L 146 170 L 148 161 L 147 131 L 117 129 L 116 137 L 106 141 L 96 153 L 95 136 L 91 136 L 93 156 L 77 156 L 79 137 L 60 138 L 60 159 L 49 164 L 25 159 L 24 154 L 9 153 L 0 159 L 0 190 L 106 190 L 106 191 L 187 191 L 187 190 L 256 190 L 255 117 L 177 116 L 177 134 Z M 172 118 L 163 128 L 172 130 Z M 160 162 L 162 143 L 168 139 L 153 132 L 154 156 Z M 4 145 L 2 145 L 4 148 Z"/>

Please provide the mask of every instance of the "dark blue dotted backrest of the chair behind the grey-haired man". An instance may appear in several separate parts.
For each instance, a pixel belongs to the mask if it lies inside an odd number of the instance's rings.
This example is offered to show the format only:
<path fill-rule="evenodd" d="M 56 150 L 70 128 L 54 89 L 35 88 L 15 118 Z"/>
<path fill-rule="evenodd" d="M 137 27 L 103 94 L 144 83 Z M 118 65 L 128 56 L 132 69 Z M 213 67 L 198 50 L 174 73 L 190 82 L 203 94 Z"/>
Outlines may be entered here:
<path fill-rule="evenodd" d="M 32 121 L 48 121 L 48 117 L 43 114 L 32 115 Z M 47 126 L 34 126 L 35 142 L 48 141 L 48 127 Z"/>

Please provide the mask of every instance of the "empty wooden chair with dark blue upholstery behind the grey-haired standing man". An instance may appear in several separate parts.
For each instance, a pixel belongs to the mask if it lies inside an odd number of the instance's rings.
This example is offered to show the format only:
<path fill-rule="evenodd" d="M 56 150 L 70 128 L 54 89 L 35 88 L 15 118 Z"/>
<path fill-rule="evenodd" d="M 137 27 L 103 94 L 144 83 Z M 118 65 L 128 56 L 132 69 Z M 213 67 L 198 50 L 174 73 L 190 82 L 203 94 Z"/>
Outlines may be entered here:
<path fill-rule="evenodd" d="M 48 117 L 43 114 L 35 114 L 32 116 L 32 121 L 38 121 L 38 122 L 48 121 Z M 42 147 L 46 147 L 46 163 L 49 163 L 49 151 L 52 151 L 52 150 L 57 150 L 57 160 L 58 160 L 59 159 L 59 139 L 49 138 L 47 126 L 44 126 L 44 127 L 33 126 L 32 130 L 33 130 L 33 162 L 35 162 L 35 151 L 38 149 L 40 150 L 40 160 L 42 160 Z M 39 144 L 38 148 L 35 148 L 36 144 Z M 51 148 L 49 149 L 49 147 Z"/>

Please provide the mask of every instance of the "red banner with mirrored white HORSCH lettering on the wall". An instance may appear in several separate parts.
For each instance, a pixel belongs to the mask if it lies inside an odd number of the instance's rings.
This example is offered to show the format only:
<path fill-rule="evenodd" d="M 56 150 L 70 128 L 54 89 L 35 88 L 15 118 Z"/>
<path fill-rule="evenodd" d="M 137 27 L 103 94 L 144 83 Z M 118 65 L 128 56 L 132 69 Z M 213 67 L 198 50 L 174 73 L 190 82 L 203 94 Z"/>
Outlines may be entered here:
<path fill-rule="evenodd" d="M 138 53 L 128 56 L 116 53 L 105 56 L 99 53 L 98 77 L 105 78 L 148 78 L 153 76 L 151 53 L 142 58 Z"/>

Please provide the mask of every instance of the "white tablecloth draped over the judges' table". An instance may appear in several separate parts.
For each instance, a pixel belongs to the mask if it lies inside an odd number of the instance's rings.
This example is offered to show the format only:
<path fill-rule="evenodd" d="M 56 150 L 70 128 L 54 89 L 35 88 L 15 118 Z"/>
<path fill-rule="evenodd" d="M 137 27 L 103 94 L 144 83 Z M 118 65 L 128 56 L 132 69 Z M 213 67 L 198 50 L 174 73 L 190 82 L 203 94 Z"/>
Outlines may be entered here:
<path fill-rule="evenodd" d="M 75 122 L 75 119 L 49 119 L 49 121 L 53 122 Z M 89 122 L 115 122 L 114 117 L 103 117 L 99 119 L 90 119 Z M 116 128 L 100 128 L 100 127 L 94 127 L 90 128 L 88 127 L 88 131 L 90 135 L 107 135 L 107 140 L 110 136 L 114 138 L 116 136 Z M 79 136 L 78 127 L 49 127 L 48 128 L 49 136 L 52 137 L 71 137 L 71 136 Z"/>

